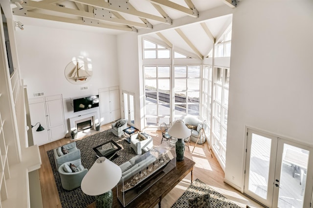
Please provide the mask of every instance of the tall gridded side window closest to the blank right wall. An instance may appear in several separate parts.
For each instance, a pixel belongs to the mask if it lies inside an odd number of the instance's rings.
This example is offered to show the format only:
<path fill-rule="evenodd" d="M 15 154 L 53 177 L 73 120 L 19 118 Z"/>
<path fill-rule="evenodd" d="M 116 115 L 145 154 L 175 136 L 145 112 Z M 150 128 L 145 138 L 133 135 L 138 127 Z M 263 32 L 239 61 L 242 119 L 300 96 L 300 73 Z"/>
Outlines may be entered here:
<path fill-rule="evenodd" d="M 214 68 L 212 144 L 225 161 L 227 112 L 228 112 L 229 69 Z"/>

